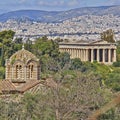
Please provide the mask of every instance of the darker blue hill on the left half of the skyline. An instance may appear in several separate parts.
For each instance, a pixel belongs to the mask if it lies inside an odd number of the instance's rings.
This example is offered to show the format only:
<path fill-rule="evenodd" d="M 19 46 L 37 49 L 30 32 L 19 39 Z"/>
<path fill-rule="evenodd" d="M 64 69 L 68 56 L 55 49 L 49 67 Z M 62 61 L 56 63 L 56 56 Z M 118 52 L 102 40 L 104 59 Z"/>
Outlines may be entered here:
<path fill-rule="evenodd" d="M 4 13 L 0 15 L 0 21 L 5 22 L 8 19 L 15 20 L 30 20 L 30 21 L 45 21 L 47 22 L 47 18 L 53 18 L 59 12 L 55 11 L 42 11 L 42 10 L 18 10 L 12 11 L 8 13 Z"/>

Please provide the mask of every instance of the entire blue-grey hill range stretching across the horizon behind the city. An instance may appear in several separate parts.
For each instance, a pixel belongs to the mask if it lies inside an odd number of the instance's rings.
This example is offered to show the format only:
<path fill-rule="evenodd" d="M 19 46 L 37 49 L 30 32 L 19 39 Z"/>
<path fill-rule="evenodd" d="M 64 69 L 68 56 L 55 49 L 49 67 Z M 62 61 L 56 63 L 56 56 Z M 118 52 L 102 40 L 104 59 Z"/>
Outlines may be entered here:
<path fill-rule="evenodd" d="M 39 22 L 61 22 L 82 15 L 108 15 L 108 14 L 120 16 L 120 6 L 84 7 L 59 12 L 41 10 L 18 10 L 1 14 L 0 22 L 5 22 L 9 19 Z"/>

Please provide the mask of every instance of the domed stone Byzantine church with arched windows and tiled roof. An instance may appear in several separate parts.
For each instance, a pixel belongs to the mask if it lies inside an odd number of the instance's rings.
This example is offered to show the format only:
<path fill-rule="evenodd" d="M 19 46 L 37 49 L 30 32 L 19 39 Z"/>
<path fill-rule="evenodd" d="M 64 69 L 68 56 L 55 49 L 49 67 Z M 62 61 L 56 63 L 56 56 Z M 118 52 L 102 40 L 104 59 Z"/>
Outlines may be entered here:
<path fill-rule="evenodd" d="M 5 80 L 0 82 L 1 94 L 36 92 L 39 86 L 44 86 L 40 80 L 40 61 L 24 46 L 6 60 L 5 67 Z"/>

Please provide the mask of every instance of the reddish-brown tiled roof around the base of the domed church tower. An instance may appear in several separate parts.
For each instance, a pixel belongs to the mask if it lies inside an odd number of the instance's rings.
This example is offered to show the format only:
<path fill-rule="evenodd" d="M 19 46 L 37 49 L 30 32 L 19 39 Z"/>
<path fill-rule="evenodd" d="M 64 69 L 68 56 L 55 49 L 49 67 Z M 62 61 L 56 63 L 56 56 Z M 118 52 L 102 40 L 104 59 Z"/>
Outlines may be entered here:
<path fill-rule="evenodd" d="M 14 83 L 12 83 L 9 80 L 2 80 L 0 81 L 0 93 L 3 93 L 3 94 L 4 93 L 8 93 L 8 94 L 9 93 L 24 93 L 27 90 L 34 88 L 35 86 L 36 87 L 39 86 L 39 84 L 52 87 L 52 88 L 57 87 L 56 83 L 52 80 L 52 78 L 46 79 L 46 80 L 30 80 L 29 82 L 24 83 L 24 85 L 22 85 L 19 88 L 16 87 Z"/>

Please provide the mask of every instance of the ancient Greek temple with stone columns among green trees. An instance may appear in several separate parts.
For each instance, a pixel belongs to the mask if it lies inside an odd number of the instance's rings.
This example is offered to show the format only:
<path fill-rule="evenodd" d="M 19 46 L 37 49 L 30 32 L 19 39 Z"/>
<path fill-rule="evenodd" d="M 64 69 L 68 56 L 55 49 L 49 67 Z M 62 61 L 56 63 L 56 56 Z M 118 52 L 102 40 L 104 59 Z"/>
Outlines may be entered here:
<path fill-rule="evenodd" d="M 116 44 L 107 41 L 91 43 L 60 43 L 60 52 L 68 52 L 70 58 L 80 58 L 81 61 L 97 61 L 104 64 L 116 62 Z"/>

